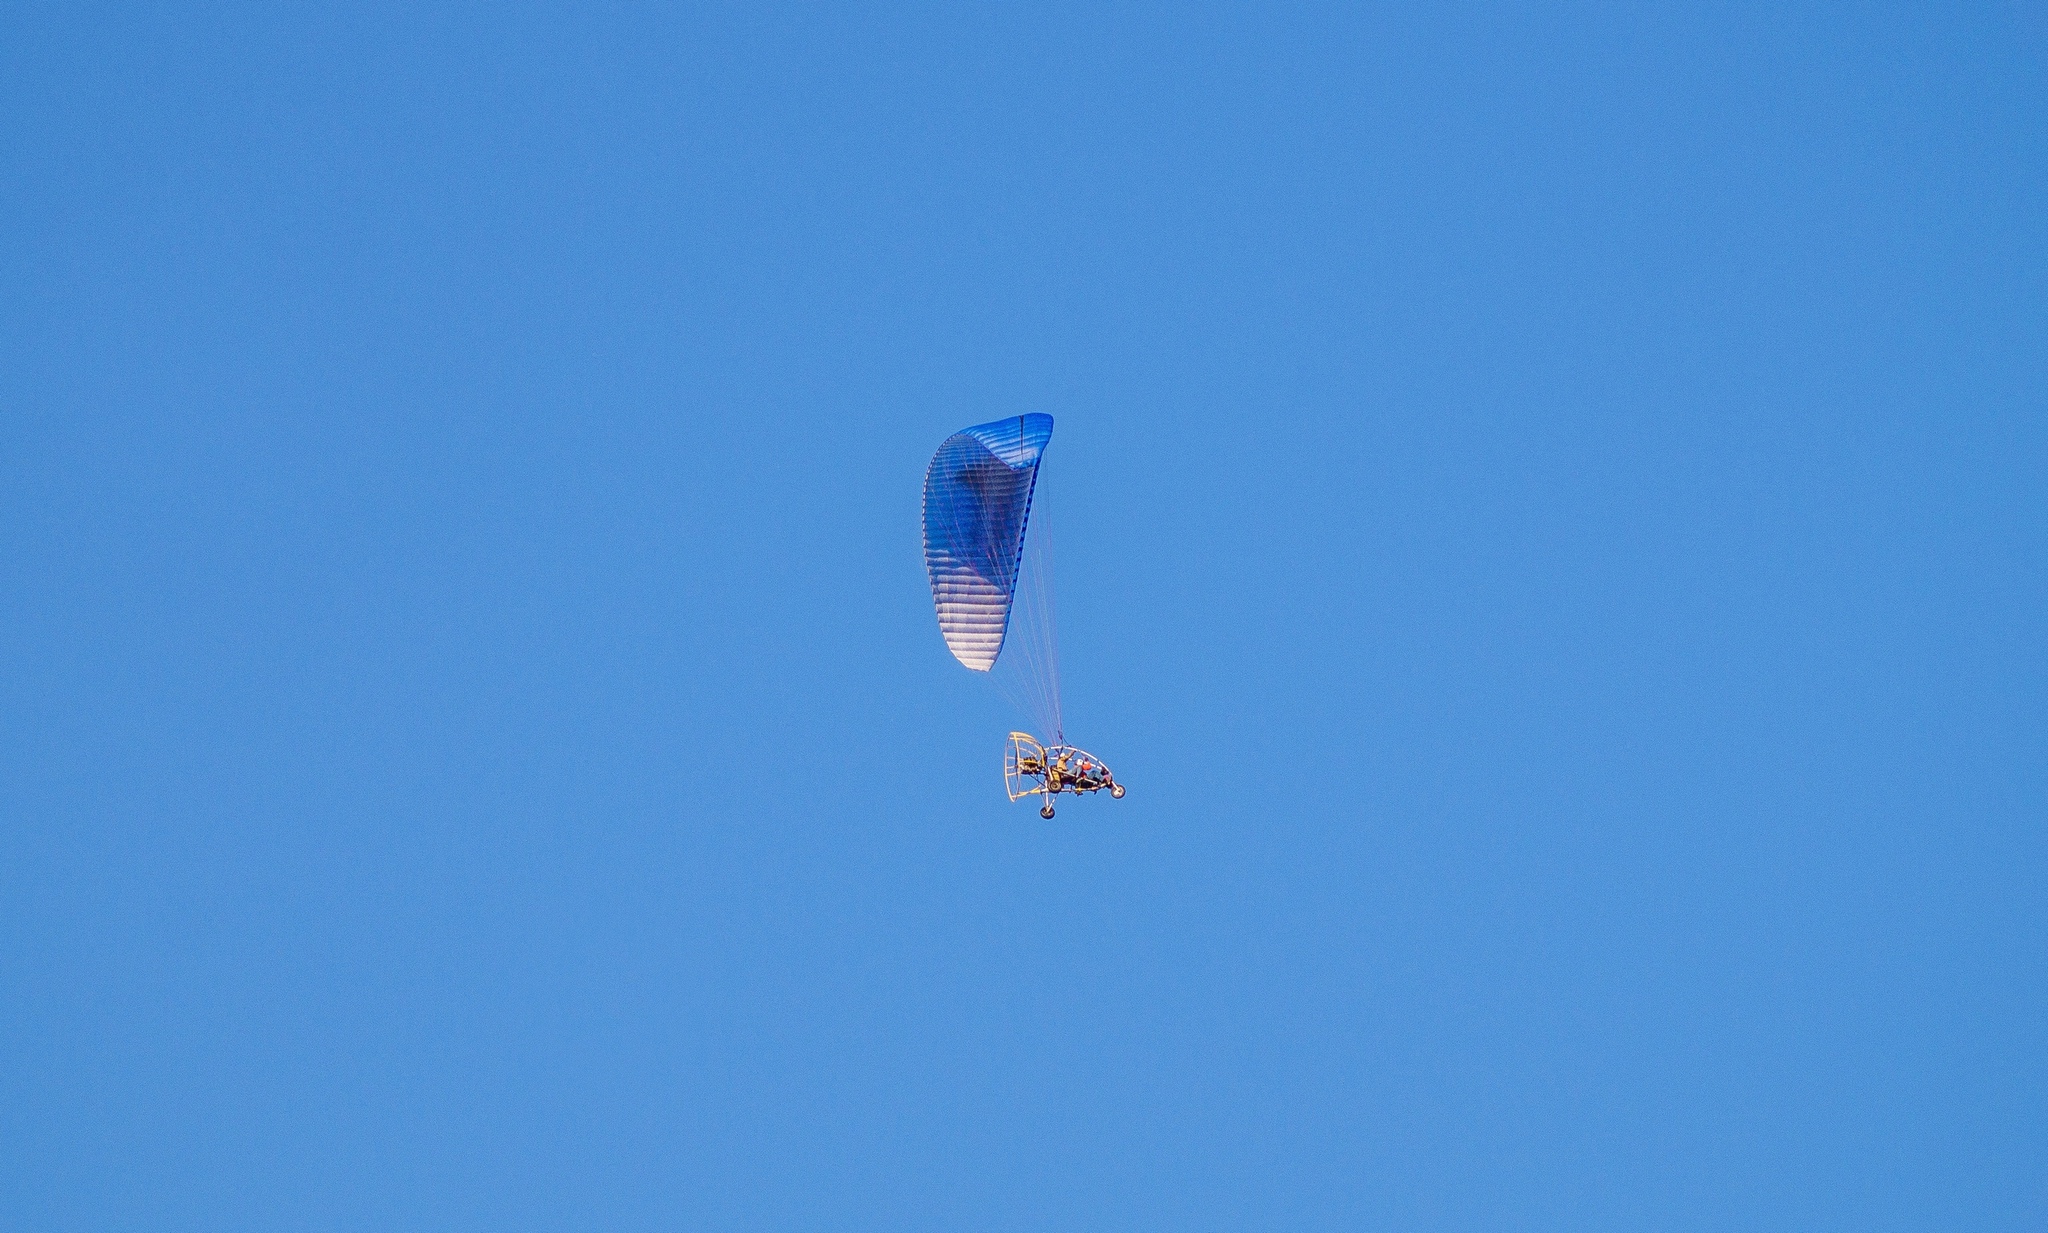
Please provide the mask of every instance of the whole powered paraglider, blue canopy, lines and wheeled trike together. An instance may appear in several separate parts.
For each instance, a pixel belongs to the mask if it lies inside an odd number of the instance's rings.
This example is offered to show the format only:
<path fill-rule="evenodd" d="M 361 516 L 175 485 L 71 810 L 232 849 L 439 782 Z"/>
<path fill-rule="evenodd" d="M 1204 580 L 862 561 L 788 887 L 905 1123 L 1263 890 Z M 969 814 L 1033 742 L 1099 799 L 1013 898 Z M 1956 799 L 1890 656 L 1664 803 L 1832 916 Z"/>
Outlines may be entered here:
<path fill-rule="evenodd" d="M 1053 735 L 1047 743 L 1014 731 L 1004 758 L 1010 799 L 1042 797 L 1040 817 L 1053 817 L 1061 793 L 1124 795 L 1110 768 L 1069 746 L 1061 731 L 1044 537 L 1026 541 L 1038 461 L 1051 438 L 1053 416 L 1044 414 L 975 424 L 948 436 L 924 473 L 924 565 L 938 633 L 954 660 L 1006 684 L 1012 700 Z"/>

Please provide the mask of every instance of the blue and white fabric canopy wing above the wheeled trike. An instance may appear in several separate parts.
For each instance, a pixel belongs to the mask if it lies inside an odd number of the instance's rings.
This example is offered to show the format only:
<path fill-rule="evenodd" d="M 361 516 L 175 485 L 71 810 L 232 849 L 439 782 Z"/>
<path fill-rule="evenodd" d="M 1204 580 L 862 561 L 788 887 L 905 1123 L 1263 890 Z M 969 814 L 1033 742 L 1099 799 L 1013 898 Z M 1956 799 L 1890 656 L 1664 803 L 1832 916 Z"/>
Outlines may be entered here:
<path fill-rule="evenodd" d="M 1024 522 L 1053 416 L 1010 416 L 963 428 L 924 473 L 924 567 L 938 631 L 977 672 L 995 666 L 1010 633 Z"/>

